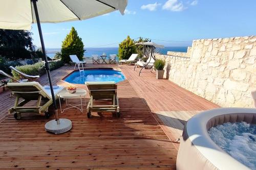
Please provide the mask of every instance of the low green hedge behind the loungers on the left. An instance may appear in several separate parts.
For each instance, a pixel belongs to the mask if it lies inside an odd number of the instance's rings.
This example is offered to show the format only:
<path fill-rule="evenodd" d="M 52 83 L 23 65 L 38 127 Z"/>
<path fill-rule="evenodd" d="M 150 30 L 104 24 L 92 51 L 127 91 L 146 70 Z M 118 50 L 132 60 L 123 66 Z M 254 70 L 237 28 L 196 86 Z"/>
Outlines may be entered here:
<path fill-rule="evenodd" d="M 23 66 L 16 66 L 15 68 L 18 69 L 19 71 L 24 72 L 27 75 L 31 75 L 31 76 L 36 76 L 36 75 L 44 75 L 46 74 L 46 69 L 44 66 L 44 62 L 38 62 L 32 65 L 23 65 Z M 58 61 L 53 61 L 53 62 L 49 62 L 50 65 L 50 70 L 54 70 L 57 69 L 61 66 L 64 65 L 64 62 L 61 60 Z M 19 74 L 12 70 L 12 75 L 15 79 L 20 79 Z"/>

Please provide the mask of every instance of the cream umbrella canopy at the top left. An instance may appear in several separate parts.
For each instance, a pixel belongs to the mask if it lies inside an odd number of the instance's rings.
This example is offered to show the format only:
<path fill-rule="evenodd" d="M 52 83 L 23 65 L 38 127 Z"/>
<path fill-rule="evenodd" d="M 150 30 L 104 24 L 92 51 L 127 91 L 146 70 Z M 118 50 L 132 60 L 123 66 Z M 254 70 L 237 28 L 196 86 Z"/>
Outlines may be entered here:
<path fill-rule="evenodd" d="M 124 14 L 127 0 L 38 0 L 41 23 L 57 23 L 92 18 L 115 10 Z M 36 23 L 31 0 L 1 0 L 0 28 L 30 30 Z"/>

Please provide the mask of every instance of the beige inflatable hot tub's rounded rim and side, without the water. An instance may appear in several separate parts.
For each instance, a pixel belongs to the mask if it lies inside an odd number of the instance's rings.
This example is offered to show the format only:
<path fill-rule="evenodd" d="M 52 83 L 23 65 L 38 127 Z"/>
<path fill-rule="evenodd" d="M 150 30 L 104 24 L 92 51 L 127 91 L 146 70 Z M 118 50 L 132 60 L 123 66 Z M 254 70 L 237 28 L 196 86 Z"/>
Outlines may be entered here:
<path fill-rule="evenodd" d="M 211 127 L 228 122 L 256 124 L 256 109 L 218 108 L 190 118 L 182 134 L 177 170 L 250 169 L 223 151 L 208 135 Z"/>

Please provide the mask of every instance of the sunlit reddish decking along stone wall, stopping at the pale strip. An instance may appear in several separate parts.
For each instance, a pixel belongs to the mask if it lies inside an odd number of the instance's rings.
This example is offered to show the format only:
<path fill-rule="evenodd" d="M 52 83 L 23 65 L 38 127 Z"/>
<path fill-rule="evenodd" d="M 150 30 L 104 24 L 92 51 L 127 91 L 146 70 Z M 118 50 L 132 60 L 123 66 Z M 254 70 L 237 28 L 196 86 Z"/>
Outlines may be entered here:
<path fill-rule="evenodd" d="M 143 69 L 134 71 L 133 65 L 121 65 L 126 79 L 134 87 L 140 98 L 144 98 L 151 111 L 195 111 L 219 107 L 200 96 L 185 90 L 168 80 L 157 80 L 155 72 Z"/>

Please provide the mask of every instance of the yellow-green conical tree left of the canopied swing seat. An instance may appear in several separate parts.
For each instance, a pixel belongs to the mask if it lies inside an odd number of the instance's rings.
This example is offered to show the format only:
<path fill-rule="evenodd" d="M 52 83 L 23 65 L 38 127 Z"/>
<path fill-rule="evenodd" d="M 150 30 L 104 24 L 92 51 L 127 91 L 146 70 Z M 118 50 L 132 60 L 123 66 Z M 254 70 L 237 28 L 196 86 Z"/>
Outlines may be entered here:
<path fill-rule="evenodd" d="M 123 59 L 129 59 L 129 57 L 136 53 L 136 47 L 134 40 L 130 38 L 130 36 L 127 36 L 126 39 L 124 39 L 120 44 L 118 48 L 118 57 L 119 60 Z"/>

